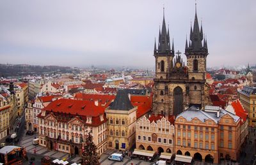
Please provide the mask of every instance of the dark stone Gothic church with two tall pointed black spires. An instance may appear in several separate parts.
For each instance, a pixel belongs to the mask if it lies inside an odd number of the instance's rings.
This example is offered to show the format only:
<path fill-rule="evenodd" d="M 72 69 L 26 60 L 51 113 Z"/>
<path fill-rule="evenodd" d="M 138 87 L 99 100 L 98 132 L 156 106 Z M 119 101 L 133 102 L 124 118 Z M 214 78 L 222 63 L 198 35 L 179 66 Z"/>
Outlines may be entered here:
<path fill-rule="evenodd" d="M 170 42 L 169 29 L 163 16 L 162 30 L 159 29 L 158 44 L 154 45 L 156 58 L 156 78 L 154 79 L 153 113 L 179 115 L 190 106 L 204 108 L 209 104 L 206 83 L 207 41 L 202 24 L 199 27 L 195 11 L 195 22 L 190 29 L 189 41 L 186 40 L 185 55 L 187 64 L 174 51 Z"/>

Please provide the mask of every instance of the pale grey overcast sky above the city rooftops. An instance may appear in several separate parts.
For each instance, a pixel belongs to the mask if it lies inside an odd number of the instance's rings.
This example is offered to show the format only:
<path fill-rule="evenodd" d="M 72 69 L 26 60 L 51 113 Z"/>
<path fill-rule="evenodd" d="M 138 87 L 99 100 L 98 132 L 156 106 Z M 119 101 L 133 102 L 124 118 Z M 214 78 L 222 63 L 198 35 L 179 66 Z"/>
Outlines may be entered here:
<path fill-rule="evenodd" d="M 0 1 L 0 63 L 154 68 L 163 4 L 175 51 L 184 53 L 193 0 Z M 197 13 L 207 67 L 255 65 L 255 0 L 198 0 Z"/>

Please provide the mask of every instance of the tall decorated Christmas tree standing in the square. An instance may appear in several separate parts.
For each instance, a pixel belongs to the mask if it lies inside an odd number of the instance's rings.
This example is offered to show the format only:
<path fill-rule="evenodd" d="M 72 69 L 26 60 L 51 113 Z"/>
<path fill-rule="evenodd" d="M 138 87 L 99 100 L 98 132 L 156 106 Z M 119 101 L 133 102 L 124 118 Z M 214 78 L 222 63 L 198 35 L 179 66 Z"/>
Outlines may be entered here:
<path fill-rule="evenodd" d="M 84 150 L 83 150 L 83 156 L 82 156 L 82 164 L 83 165 L 98 165 L 99 162 L 99 156 L 96 152 L 97 147 L 92 141 L 92 135 L 89 133 L 88 137 L 85 140 Z"/>

